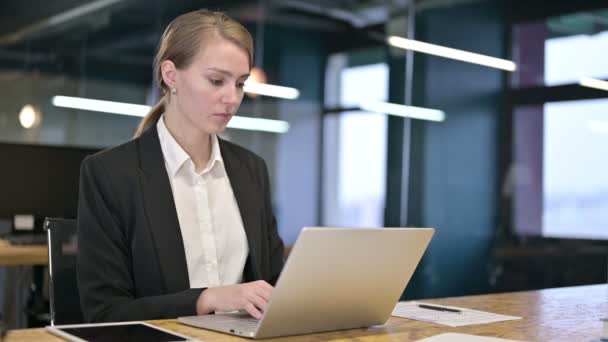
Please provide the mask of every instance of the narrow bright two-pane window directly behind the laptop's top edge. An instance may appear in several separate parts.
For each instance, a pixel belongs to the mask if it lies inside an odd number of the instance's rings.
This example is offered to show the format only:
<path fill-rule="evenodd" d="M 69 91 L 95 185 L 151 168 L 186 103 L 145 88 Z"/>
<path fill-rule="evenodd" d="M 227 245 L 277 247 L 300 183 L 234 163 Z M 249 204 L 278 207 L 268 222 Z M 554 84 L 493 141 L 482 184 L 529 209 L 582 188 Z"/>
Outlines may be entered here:
<path fill-rule="evenodd" d="M 337 102 L 342 108 L 388 97 L 384 63 L 347 67 L 337 75 Z M 385 115 L 346 111 L 325 116 L 323 225 L 383 226 L 386 134 Z"/>

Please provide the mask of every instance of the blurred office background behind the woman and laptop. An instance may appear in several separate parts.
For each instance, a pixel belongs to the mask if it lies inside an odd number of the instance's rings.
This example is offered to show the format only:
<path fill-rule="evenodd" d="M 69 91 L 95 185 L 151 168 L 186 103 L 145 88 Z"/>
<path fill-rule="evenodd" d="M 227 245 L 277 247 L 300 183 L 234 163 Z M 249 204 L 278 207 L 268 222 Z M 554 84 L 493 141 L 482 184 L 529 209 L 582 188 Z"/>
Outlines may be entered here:
<path fill-rule="evenodd" d="M 2 1 L 3 232 L 15 215 L 36 228 L 75 217 L 82 158 L 128 141 L 140 120 L 57 96 L 152 105 L 159 37 L 198 8 L 245 24 L 266 82 L 299 91 L 246 96 L 239 110 L 288 129 L 224 134 L 266 160 L 287 245 L 304 226 L 435 227 L 404 299 L 606 282 L 608 91 L 579 83 L 608 78 L 608 3 L 594 0 Z M 391 35 L 516 70 L 396 48 Z M 35 324 L 12 317 L 31 302 L 31 275 L 9 269 L 5 319 Z"/>

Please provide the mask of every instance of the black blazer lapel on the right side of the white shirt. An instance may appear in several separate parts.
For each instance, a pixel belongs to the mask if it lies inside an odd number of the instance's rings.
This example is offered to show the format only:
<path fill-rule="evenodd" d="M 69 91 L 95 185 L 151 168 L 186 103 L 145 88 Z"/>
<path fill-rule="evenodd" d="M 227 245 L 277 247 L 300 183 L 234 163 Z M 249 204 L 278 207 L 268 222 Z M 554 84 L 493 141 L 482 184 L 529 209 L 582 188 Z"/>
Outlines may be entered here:
<path fill-rule="evenodd" d="M 226 174 L 232 186 L 232 192 L 236 198 L 236 203 L 239 207 L 245 233 L 247 234 L 247 242 L 249 244 L 248 265 L 246 265 L 245 275 L 250 275 L 252 279 L 262 279 L 260 271 L 261 255 L 260 239 L 261 232 L 261 208 L 259 201 L 259 190 L 255 187 L 254 180 L 251 176 L 251 171 L 244 167 L 243 162 L 239 159 L 237 153 L 223 140 L 218 138 L 220 143 L 220 151 Z"/>

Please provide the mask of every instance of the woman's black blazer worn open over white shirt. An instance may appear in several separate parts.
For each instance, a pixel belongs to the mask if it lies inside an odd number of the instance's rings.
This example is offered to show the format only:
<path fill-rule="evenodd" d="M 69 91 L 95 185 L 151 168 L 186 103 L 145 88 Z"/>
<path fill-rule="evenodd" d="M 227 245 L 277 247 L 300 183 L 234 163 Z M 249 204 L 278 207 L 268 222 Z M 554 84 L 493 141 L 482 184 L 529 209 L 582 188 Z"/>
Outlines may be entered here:
<path fill-rule="evenodd" d="M 219 142 L 249 244 L 243 281 L 274 284 L 283 267 L 283 243 L 266 164 L 242 147 Z M 190 288 L 156 125 L 140 138 L 83 161 L 78 243 L 78 290 L 87 321 L 196 314 L 204 289 Z"/>

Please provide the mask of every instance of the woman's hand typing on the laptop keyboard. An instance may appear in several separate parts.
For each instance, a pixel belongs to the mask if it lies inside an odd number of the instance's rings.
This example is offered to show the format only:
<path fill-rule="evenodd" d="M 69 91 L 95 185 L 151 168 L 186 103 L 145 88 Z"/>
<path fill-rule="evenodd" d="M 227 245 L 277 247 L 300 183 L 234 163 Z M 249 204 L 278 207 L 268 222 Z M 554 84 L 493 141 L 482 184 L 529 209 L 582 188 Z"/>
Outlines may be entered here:
<path fill-rule="evenodd" d="M 210 287 L 196 301 L 196 313 L 245 310 L 260 319 L 270 300 L 273 287 L 263 280 L 251 283 Z"/>

